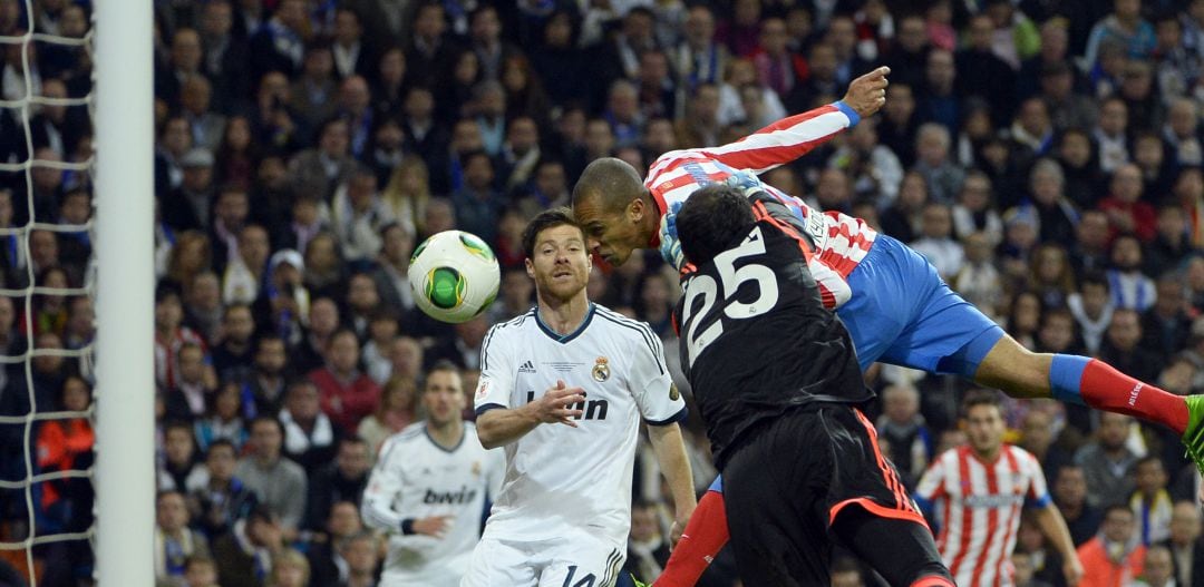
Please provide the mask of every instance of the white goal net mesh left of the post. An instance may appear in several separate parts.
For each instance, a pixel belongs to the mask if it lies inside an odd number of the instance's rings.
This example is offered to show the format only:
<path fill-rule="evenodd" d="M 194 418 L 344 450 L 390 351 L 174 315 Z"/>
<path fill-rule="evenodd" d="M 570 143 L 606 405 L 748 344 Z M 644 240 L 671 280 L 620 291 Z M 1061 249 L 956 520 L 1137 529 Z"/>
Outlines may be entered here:
<path fill-rule="evenodd" d="M 94 410 L 63 393 L 93 383 L 92 198 L 82 223 L 60 209 L 90 194 L 93 36 L 42 8 L 0 1 L 0 327 L 20 333 L 0 332 L 0 558 L 31 586 L 87 581 L 95 530 Z M 59 265 L 66 243 L 82 267 Z"/>

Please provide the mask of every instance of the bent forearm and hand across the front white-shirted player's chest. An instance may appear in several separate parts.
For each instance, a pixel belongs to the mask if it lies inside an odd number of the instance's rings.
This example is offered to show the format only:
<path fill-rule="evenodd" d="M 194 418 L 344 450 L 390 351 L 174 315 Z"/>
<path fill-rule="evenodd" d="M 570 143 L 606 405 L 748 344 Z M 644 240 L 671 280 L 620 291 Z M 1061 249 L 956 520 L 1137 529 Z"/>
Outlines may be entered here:
<path fill-rule="evenodd" d="M 535 402 L 520 408 L 492 409 L 477 416 L 477 437 L 485 449 L 496 449 L 523 438 L 541 423 L 559 422 L 576 428 L 573 419 L 582 415 L 582 410 L 573 407 L 577 403 L 584 405 L 585 391 L 556 381 L 555 387 Z"/>

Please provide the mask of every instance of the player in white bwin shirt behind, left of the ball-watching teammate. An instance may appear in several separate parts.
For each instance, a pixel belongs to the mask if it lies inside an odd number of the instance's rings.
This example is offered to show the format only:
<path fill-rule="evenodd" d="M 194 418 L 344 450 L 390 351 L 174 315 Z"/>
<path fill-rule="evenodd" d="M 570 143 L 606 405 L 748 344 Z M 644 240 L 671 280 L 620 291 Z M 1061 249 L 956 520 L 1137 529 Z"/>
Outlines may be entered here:
<path fill-rule="evenodd" d="M 364 491 L 364 522 L 389 534 L 382 587 L 459 585 L 506 467 L 461 417 L 454 364 L 431 368 L 421 402 L 426 421 L 385 440 Z"/>

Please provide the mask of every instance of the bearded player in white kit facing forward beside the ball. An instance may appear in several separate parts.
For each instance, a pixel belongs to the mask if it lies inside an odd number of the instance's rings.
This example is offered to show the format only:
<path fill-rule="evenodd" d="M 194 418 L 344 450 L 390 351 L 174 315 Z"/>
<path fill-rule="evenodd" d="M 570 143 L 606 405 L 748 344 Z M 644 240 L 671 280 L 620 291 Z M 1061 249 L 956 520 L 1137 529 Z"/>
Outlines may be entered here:
<path fill-rule="evenodd" d="M 626 557 L 641 419 L 677 533 L 694 511 L 685 403 L 651 328 L 590 303 L 585 235 L 567 208 L 531 220 L 523 247 L 538 304 L 482 346 L 478 434 L 504 447 L 506 480 L 461 585 L 610 586 Z"/>

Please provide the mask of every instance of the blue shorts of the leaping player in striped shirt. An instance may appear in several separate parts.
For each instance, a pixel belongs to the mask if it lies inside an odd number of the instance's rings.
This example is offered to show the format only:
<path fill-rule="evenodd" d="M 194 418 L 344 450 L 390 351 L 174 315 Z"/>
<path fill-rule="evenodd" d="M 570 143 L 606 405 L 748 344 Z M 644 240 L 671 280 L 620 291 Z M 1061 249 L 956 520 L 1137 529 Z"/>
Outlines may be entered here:
<path fill-rule="evenodd" d="M 837 310 L 861 370 L 872 363 L 973 378 L 1003 328 L 949 289 L 903 243 L 879 235 L 849 274 L 852 297 Z"/>

